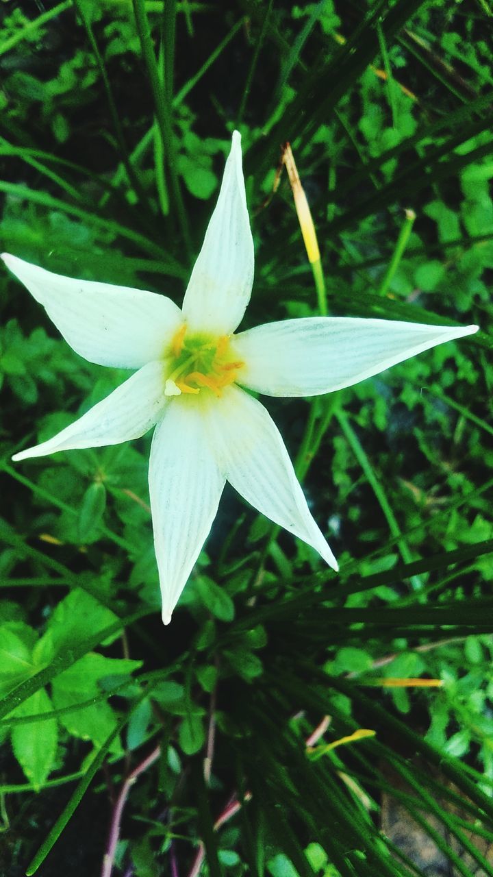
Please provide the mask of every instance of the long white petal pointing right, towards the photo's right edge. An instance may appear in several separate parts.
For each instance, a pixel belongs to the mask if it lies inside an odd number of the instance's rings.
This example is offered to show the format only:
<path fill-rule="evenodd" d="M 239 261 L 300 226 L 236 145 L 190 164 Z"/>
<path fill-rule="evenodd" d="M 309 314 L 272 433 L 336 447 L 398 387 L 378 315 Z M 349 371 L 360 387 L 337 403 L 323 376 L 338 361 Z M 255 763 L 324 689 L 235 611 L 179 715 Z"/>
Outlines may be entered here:
<path fill-rule="evenodd" d="M 267 396 L 319 396 L 478 327 L 433 326 L 360 317 L 304 317 L 268 323 L 232 339 L 245 362 L 243 386 Z"/>

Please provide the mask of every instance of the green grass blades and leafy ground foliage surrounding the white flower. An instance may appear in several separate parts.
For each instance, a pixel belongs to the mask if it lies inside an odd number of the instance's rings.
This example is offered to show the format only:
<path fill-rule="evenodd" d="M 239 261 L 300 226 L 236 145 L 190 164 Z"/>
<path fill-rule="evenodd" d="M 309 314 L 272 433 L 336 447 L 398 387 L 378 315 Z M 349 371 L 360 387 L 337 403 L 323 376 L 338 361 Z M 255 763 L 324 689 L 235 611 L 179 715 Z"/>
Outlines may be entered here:
<path fill-rule="evenodd" d="M 493 76 L 488 4 L 463 5 L 5 6 L 3 249 L 180 302 L 239 126 L 252 324 L 318 312 L 285 174 L 273 193 L 289 140 L 331 313 L 481 332 L 273 403 L 339 576 L 230 496 L 164 629 L 149 438 L 9 462 L 122 374 L 2 275 L 0 870 L 54 845 L 67 870 L 72 820 L 74 877 L 98 873 L 134 770 L 114 873 L 424 873 L 381 831 L 389 795 L 457 873 L 493 873 Z"/>

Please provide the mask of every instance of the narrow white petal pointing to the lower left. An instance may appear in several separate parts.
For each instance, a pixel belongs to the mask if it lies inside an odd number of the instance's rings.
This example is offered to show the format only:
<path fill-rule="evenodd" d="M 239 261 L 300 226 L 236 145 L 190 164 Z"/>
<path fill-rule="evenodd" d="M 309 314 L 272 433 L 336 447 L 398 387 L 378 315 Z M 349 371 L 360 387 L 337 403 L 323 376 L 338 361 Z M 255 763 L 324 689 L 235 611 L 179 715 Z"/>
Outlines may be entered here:
<path fill-rule="evenodd" d="M 139 439 L 157 423 L 166 404 L 163 364 L 148 362 L 53 439 L 15 453 L 12 460 Z"/>

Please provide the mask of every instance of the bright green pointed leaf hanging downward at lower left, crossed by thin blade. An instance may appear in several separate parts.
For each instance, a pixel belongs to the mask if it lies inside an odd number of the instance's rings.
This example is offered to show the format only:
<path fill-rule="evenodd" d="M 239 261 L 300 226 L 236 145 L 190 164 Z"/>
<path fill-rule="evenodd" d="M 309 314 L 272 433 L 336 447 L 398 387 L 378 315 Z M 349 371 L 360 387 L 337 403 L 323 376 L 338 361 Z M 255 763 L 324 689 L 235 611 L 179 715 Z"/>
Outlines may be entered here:
<path fill-rule="evenodd" d="M 33 716 L 51 710 L 53 706 L 50 698 L 44 688 L 39 688 L 36 694 L 15 710 L 15 716 Z M 39 790 L 54 766 L 58 739 L 56 719 L 45 719 L 37 724 L 15 725 L 11 739 L 19 765 L 34 788 Z"/>

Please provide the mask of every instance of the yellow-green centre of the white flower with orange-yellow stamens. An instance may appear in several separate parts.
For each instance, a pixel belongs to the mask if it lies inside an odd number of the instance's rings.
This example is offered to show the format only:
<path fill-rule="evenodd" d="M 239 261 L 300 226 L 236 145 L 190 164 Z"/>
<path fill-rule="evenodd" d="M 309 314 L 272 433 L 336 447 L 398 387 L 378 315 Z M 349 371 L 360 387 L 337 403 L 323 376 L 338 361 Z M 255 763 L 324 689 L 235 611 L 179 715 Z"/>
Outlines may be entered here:
<path fill-rule="evenodd" d="M 234 360 L 229 335 L 214 338 L 205 333 L 187 334 L 187 324 L 175 332 L 167 351 L 171 361 L 165 395 L 196 396 L 201 390 L 211 390 L 215 396 L 236 380 L 243 362 Z"/>

